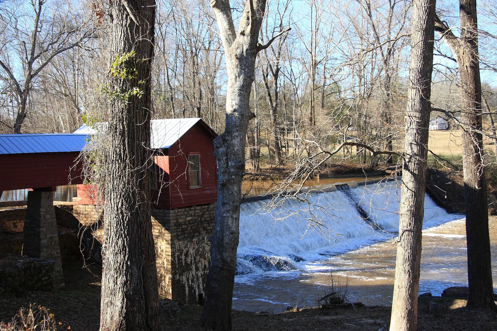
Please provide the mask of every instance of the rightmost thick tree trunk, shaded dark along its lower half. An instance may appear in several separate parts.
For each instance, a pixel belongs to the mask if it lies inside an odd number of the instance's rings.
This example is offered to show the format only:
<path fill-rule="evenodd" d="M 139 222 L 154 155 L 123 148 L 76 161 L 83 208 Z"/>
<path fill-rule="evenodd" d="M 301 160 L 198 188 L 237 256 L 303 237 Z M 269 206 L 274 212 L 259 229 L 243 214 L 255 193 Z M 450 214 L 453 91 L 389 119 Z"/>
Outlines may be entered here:
<path fill-rule="evenodd" d="M 461 38 L 458 53 L 461 78 L 464 197 L 468 247 L 468 307 L 495 309 L 490 257 L 487 187 L 483 161 L 482 86 L 478 58 L 476 0 L 460 0 Z"/>

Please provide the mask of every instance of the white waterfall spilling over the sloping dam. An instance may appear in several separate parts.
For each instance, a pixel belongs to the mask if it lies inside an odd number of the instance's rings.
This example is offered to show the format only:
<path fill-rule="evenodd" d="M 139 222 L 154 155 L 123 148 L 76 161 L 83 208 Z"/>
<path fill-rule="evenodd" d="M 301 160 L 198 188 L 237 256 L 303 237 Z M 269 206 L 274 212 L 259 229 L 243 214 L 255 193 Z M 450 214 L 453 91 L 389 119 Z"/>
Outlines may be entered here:
<path fill-rule="evenodd" d="M 318 261 L 397 233 L 400 189 L 396 182 L 342 185 L 303 193 L 268 208 L 270 200 L 243 203 L 237 274 L 310 270 Z M 450 218 L 428 196 L 424 226 Z"/>

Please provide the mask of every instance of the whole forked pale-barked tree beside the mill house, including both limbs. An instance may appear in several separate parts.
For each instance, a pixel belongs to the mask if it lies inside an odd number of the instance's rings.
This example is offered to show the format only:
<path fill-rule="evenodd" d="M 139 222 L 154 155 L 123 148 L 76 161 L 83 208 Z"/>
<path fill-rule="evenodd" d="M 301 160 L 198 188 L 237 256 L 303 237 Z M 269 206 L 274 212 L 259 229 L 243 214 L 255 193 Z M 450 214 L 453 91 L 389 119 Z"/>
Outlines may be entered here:
<path fill-rule="evenodd" d="M 218 161 L 218 199 L 201 320 L 206 329 L 232 328 L 231 307 L 237 266 L 245 143 L 248 121 L 254 117 L 250 111 L 250 92 L 255 76 L 255 59 L 260 50 L 257 37 L 265 5 L 265 0 L 247 1 L 237 34 L 230 2 L 211 2 L 225 49 L 228 85 L 225 132 L 214 140 Z"/>

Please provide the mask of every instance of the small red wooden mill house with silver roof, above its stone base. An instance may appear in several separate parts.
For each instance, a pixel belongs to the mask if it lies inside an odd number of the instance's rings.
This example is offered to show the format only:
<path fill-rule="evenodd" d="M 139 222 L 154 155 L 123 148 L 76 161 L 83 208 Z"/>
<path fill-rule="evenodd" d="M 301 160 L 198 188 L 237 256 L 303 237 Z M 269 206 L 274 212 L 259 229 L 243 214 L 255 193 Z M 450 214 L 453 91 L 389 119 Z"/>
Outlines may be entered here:
<path fill-rule="evenodd" d="M 75 134 L 94 134 L 83 125 Z M 213 139 L 217 134 L 201 119 L 153 120 L 151 148 L 155 167 L 153 205 L 174 209 L 216 202 L 217 166 Z M 80 204 L 94 204 L 94 188 L 79 185 Z"/>

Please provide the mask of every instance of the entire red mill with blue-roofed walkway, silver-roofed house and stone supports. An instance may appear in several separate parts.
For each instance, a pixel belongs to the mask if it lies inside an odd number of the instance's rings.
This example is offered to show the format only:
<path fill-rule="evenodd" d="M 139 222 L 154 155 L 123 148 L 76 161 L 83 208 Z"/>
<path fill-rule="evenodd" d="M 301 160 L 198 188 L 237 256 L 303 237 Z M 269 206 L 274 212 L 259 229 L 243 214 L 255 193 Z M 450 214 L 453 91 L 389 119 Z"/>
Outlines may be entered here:
<path fill-rule="evenodd" d="M 159 290 L 174 301 L 196 303 L 203 297 L 209 269 L 208 238 L 214 228 L 217 199 L 213 145 L 217 134 L 199 118 L 153 120 L 151 129 L 156 163 L 151 202 Z M 49 210 L 55 188 L 78 184 L 74 215 L 84 226 L 102 225 L 97 190 L 83 185 L 81 167 L 75 161 L 87 137 L 94 133 L 82 126 L 73 134 L 0 135 L 0 191 L 33 189 L 28 193 L 23 254 L 28 242 L 35 243 L 28 255 L 56 261 L 58 281 L 62 276 L 60 250 L 50 247 L 58 246 L 55 213 Z M 49 228 L 52 238 L 39 238 Z"/>

